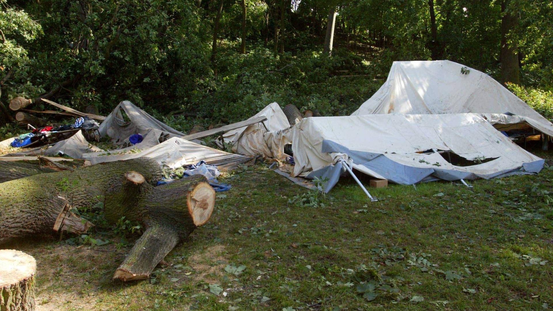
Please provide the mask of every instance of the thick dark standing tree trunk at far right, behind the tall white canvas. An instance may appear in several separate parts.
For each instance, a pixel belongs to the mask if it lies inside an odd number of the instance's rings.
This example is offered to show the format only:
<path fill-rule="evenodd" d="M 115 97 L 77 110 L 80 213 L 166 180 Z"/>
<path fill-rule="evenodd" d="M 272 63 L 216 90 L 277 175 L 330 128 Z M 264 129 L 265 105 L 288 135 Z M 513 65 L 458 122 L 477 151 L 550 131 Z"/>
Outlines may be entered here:
<path fill-rule="evenodd" d="M 503 13 L 501 18 L 501 82 L 503 84 L 505 82 L 520 84 L 517 42 L 515 40 L 509 42 L 507 38 L 510 30 L 517 25 L 518 17 L 516 13 L 508 10 L 508 6 L 508 0 L 501 2 L 501 12 Z"/>

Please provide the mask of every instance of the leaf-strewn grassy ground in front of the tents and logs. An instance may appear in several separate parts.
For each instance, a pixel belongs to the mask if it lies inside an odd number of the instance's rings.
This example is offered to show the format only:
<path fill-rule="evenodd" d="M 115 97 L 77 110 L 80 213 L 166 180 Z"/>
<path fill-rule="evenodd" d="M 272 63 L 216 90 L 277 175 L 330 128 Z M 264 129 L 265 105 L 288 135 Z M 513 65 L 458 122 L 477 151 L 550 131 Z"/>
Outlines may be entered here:
<path fill-rule="evenodd" d="M 241 168 L 208 224 L 139 283 L 112 281 L 131 247 L 113 235 L 14 247 L 38 262 L 39 310 L 540 310 L 553 308 L 551 179 L 389 185 L 371 203 L 353 180 L 324 198 Z"/>

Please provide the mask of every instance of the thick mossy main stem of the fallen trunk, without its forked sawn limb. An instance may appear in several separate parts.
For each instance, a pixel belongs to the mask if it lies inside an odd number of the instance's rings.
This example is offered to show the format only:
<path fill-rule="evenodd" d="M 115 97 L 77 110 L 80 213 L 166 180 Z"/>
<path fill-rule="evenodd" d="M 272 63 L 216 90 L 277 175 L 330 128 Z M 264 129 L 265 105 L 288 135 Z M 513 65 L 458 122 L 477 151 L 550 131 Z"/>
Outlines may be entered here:
<path fill-rule="evenodd" d="M 107 190 L 121 184 L 129 170 L 152 182 L 163 176 L 155 160 L 138 158 L 0 183 L 0 244 L 51 234 L 68 202 L 77 209 L 91 208 L 98 202 L 106 206 Z"/>

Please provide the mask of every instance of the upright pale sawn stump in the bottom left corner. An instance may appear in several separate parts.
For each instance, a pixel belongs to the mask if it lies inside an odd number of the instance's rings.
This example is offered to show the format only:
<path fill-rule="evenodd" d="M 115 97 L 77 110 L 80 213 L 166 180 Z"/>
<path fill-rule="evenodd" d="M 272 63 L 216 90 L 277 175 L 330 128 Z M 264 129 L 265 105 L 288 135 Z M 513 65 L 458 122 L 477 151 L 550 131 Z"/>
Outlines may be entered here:
<path fill-rule="evenodd" d="M 15 250 L 0 250 L 0 310 L 32 311 L 36 261 Z"/>

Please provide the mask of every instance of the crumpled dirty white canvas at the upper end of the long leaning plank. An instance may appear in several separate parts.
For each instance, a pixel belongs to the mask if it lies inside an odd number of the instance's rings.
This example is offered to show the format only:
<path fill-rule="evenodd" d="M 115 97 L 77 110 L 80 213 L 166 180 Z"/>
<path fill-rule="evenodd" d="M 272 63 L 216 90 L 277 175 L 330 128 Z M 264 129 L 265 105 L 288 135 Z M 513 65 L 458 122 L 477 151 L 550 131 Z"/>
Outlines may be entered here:
<path fill-rule="evenodd" d="M 233 129 L 223 134 L 225 143 L 232 145 L 232 152 L 244 155 L 263 155 L 264 157 L 282 158 L 286 143 L 285 130 L 290 127 L 288 118 L 278 105 L 273 102 L 249 118 L 264 116 L 267 129 L 262 124 Z"/>

